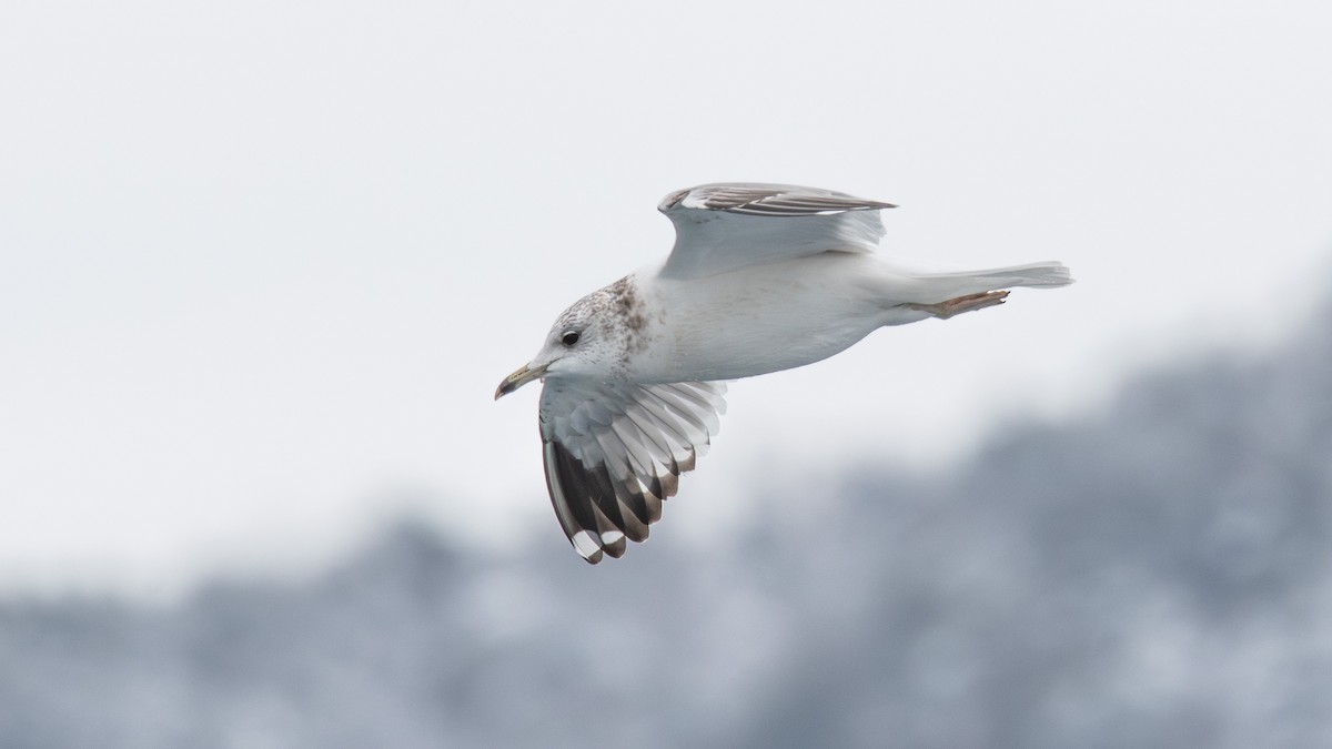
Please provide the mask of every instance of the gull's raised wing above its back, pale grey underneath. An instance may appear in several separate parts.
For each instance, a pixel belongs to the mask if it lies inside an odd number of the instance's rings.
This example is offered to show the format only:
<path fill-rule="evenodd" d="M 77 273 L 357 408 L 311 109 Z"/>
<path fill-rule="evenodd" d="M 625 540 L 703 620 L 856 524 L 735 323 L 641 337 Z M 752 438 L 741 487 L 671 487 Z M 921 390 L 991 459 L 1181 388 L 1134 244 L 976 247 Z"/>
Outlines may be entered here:
<path fill-rule="evenodd" d="M 662 275 L 694 279 L 818 252 L 874 252 L 884 233 L 880 208 L 894 205 L 797 185 L 677 191 L 657 207 L 675 224 Z"/>

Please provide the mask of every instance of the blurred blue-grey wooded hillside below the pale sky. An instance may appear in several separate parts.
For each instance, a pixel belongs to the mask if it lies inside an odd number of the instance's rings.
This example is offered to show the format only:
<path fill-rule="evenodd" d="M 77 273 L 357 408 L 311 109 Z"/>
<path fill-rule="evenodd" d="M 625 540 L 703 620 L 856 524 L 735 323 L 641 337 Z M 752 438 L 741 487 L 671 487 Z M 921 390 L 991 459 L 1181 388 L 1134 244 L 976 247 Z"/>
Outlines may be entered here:
<path fill-rule="evenodd" d="M 11 597 L 0 746 L 1327 746 L 1329 343 L 1332 305 L 706 553 L 404 521 L 305 581 Z"/>

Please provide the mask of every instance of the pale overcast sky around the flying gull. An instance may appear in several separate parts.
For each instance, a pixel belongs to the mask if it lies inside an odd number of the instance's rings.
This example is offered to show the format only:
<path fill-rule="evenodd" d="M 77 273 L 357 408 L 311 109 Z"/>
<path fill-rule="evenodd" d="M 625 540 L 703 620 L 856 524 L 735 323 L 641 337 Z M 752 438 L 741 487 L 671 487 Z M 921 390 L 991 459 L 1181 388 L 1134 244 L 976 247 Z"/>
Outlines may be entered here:
<path fill-rule="evenodd" d="M 0 589 L 316 564 L 404 508 L 565 544 L 537 390 L 492 393 L 705 181 L 1079 284 L 738 382 L 658 533 L 1261 345 L 1328 288 L 1328 39 L 1319 1 L 9 0 Z"/>

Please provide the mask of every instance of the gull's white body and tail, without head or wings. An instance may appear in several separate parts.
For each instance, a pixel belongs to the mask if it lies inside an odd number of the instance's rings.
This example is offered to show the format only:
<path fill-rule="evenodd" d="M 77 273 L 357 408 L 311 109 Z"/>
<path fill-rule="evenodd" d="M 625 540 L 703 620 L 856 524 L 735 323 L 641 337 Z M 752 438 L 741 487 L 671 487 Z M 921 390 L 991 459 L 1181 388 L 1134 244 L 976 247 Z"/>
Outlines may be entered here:
<path fill-rule="evenodd" d="M 872 255 L 822 252 L 701 279 L 647 268 L 617 284 L 631 289 L 641 355 L 623 377 L 638 382 L 738 380 L 838 355 L 874 331 L 926 320 L 930 305 L 1042 283 L 1036 272 L 923 273 Z M 614 287 L 614 285 L 613 285 Z"/>

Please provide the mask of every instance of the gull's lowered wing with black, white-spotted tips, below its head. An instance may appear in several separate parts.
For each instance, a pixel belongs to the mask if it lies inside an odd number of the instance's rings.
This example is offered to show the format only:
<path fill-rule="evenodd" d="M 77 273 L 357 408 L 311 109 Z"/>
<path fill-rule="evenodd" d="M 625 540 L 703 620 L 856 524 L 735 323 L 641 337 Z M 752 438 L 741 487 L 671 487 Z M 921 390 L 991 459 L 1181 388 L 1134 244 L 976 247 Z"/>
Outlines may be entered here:
<path fill-rule="evenodd" d="M 665 385 L 547 380 L 541 390 L 546 486 L 585 560 L 619 557 L 647 538 L 726 410 L 725 382 Z"/>

